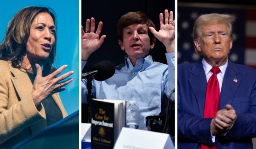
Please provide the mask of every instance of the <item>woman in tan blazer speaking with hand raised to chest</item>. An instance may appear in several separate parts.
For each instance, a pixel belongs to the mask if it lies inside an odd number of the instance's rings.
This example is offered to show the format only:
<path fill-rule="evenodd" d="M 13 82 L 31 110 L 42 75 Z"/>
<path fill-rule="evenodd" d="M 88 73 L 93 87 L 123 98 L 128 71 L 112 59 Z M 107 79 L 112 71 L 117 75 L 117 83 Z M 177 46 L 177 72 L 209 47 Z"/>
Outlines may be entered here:
<path fill-rule="evenodd" d="M 73 71 L 57 77 L 55 15 L 46 7 L 26 7 L 9 22 L 0 45 L 0 149 L 64 118 L 58 92 Z"/>

